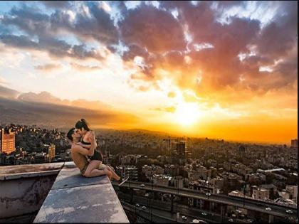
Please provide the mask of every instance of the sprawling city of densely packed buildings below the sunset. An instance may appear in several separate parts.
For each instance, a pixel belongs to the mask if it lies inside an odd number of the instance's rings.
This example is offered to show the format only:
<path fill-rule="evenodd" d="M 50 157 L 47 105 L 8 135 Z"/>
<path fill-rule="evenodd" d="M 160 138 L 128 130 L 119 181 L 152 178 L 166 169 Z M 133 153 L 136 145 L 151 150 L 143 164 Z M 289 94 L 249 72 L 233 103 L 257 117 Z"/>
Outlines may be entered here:
<path fill-rule="evenodd" d="M 132 182 L 140 186 L 139 190 L 135 189 L 135 200 L 130 199 L 131 192 L 127 188 L 115 188 L 120 200 L 130 203 L 130 206 L 148 205 L 146 199 L 150 197 L 153 203 L 158 203 L 154 208 L 159 208 L 159 202 L 172 207 L 175 203 L 181 206 L 179 218 L 182 220 L 190 215 L 192 220 L 206 223 L 211 220 L 209 215 L 216 215 L 217 218 L 221 209 L 216 203 L 200 199 L 172 198 L 171 193 L 143 190 L 148 184 L 150 188 L 192 189 L 207 197 L 246 198 L 255 201 L 258 206 L 268 203 L 297 208 L 298 139 L 290 139 L 290 146 L 287 146 L 174 137 L 140 129 L 103 129 L 95 133 L 98 148 L 103 154 L 103 164 L 111 165 L 123 178 L 128 177 L 126 184 Z M 65 132 L 19 124 L 2 125 L 1 166 L 61 161 L 72 161 Z M 195 210 L 198 215 L 184 212 L 184 206 L 188 210 Z M 142 209 L 147 208 L 144 207 Z M 176 208 L 171 209 L 177 213 Z M 264 209 L 271 209 L 271 206 Z M 282 212 L 285 215 L 293 214 L 290 209 Z M 236 206 L 226 207 L 226 217 L 226 221 L 238 223 L 267 221 L 261 214 L 244 208 L 237 209 Z M 290 223 L 298 222 L 293 216 L 286 216 L 285 219 Z M 285 219 L 278 220 L 285 222 Z M 136 218 L 132 220 L 137 221 Z"/>

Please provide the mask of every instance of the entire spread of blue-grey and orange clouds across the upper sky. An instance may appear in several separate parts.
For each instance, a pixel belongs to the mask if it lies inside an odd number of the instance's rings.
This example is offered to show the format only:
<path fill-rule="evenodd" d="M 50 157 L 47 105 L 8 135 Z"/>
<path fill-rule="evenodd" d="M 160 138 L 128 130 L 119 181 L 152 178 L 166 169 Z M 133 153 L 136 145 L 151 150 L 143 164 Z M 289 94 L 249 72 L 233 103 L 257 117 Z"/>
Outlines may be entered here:
<path fill-rule="evenodd" d="M 128 48 L 122 55 L 125 63 L 132 63 L 136 56 L 143 58 L 137 73 L 130 76 L 132 80 L 147 82 L 148 85 L 134 85 L 141 91 L 150 90 L 150 85 L 157 87 L 157 80 L 162 77 L 157 70 L 166 70 L 168 78 L 179 87 L 198 93 L 225 87 L 266 92 L 289 86 L 298 79 L 298 53 L 294 50 L 298 38 L 296 1 L 256 2 L 256 11 L 265 14 L 269 7 L 278 6 L 276 15 L 266 25 L 238 16 L 231 16 L 229 23 L 219 22 L 219 16 L 234 6 L 240 11 L 248 10 L 246 1 L 200 1 L 196 5 L 160 1 L 159 9 L 142 2 L 130 10 L 124 2 L 109 1 L 107 4 L 119 9 L 116 26 L 101 2 L 78 3 L 76 7 L 71 4 L 70 11 L 63 8 L 68 3 L 43 4 L 56 10 L 48 16 L 23 6 L 4 14 L 1 27 L 17 27 L 27 36 L 9 34 L 8 29 L 4 32 L 0 27 L 0 41 L 16 48 L 44 50 L 56 57 L 98 60 L 103 60 L 103 56 L 95 50 L 85 44 L 71 45 L 58 39 L 58 35 L 70 33 L 81 43 L 96 41 L 112 53 L 117 52 L 115 46 L 121 41 Z M 172 15 L 173 10 L 177 10 L 177 18 Z M 189 43 L 187 34 L 191 37 Z M 211 48 L 196 50 L 195 45 L 203 44 Z M 250 55 L 252 49 L 254 54 Z M 240 60 L 240 53 L 246 58 Z M 260 71 L 261 66 L 270 66 L 271 71 Z"/>

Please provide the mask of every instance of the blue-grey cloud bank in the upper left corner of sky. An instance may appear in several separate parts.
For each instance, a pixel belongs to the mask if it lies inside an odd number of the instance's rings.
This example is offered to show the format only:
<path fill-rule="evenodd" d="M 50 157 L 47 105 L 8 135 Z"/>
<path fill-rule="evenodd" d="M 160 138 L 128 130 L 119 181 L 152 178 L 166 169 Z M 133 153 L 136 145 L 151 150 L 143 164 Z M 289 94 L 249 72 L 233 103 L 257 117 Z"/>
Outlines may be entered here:
<path fill-rule="evenodd" d="M 16 26 L 31 36 L 55 37 L 65 31 L 73 33 L 81 41 L 88 38 L 105 45 L 117 44 L 118 33 L 110 14 L 98 4 L 100 3 L 83 3 L 78 6 L 80 11 L 73 8 L 63 10 L 51 4 L 56 11 L 50 16 L 23 4 L 22 8 L 13 7 L 9 13 L 4 14 L 0 23 Z"/>

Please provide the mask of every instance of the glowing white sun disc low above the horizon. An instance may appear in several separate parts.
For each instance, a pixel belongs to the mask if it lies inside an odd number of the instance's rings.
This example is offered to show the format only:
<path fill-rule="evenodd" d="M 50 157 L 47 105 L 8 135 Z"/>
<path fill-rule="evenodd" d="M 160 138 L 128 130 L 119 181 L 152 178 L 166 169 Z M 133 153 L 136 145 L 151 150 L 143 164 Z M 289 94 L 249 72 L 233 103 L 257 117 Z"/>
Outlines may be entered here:
<path fill-rule="evenodd" d="M 182 102 L 177 106 L 174 116 L 179 124 L 189 126 L 196 122 L 199 118 L 199 114 L 199 107 L 196 103 Z"/>

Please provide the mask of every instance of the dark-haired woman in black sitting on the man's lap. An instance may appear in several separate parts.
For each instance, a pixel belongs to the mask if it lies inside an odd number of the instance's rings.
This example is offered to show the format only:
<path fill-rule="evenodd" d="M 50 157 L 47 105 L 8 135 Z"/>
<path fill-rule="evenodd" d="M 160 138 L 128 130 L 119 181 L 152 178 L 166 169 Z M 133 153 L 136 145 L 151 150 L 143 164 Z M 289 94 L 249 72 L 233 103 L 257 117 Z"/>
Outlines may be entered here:
<path fill-rule="evenodd" d="M 80 119 L 80 121 L 78 121 L 75 124 L 75 128 L 78 129 L 78 132 L 82 136 L 82 139 L 79 143 L 80 146 L 83 146 L 85 149 L 90 149 L 91 146 L 90 138 L 92 137 L 94 138 L 95 134 L 90 129 L 88 122 L 86 122 L 85 119 Z M 96 147 L 97 145 L 95 145 L 95 148 Z M 97 149 L 95 149 L 93 156 L 88 156 L 88 161 L 89 161 L 89 165 L 85 171 L 85 174 L 87 174 L 88 176 L 90 175 L 93 176 L 94 173 L 93 170 L 95 169 L 107 169 L 112 173 L 112 178 L 115 178 L 115 180 L 120 181 L 120 176 L 115 174 L 115 171 L 113 171 L 113 169 L 111 169 L 110 166 L 105 166 L 104 164 L 102 164 L 103 155 Z"/>

